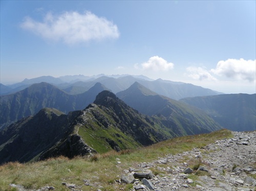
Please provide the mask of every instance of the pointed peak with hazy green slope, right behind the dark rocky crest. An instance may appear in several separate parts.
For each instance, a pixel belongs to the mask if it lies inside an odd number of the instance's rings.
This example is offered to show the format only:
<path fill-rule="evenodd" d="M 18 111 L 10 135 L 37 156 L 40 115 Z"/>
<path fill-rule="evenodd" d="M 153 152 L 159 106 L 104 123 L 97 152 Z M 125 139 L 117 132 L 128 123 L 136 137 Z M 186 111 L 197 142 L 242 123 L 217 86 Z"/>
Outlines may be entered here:
<path fill-rule="evenodd" d="M 177 134 L 206 133 L 221 128 L 202 110 L 160 96 L 139 83 L 117 93 L 117 97 L 141 113 L 154 115 Z"/>

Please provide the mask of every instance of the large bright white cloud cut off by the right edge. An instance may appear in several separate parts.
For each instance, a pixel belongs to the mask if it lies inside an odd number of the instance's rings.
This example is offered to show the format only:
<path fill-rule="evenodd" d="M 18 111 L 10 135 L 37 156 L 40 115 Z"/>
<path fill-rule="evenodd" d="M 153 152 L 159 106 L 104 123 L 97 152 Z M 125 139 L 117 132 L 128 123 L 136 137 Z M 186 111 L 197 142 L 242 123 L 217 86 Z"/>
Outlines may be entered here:
<path fill-rule="evenodd" d="M 242 58 L 239 60 L 221 60 L 218 62 L 216 69 L 211 69 L 211 72 L 218 76 L 255 82 L 256 60 L 244 60 Z"/>

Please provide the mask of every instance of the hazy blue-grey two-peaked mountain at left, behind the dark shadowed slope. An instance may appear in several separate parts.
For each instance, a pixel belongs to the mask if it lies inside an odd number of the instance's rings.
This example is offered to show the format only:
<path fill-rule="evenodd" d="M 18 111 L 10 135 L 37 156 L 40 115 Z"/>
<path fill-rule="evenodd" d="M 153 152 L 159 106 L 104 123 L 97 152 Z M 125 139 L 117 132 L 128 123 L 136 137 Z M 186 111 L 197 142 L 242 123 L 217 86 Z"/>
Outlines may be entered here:
<path fill-rule="evenodd" d="M 70 95 L 45 82 L 33 84 L 22 91 L 1 96 L 0 125 L 4 127 L 45 107 L 56 108 L 64 113 L 83 109 L 104 89 L 104 86 L 96 83 L 84 93 Z"/>

